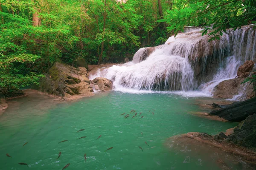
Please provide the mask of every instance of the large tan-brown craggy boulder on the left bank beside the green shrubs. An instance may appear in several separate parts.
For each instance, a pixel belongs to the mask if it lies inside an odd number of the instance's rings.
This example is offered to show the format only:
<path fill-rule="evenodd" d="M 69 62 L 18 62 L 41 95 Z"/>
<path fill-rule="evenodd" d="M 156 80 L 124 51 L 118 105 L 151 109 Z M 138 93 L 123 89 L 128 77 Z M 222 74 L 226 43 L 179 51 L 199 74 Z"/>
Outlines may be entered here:
<path fill-rule="evenodd" d="M 33 85 L 32 88 L 66 99 L 93 95 L 86 68 L 75 68 L 58 62 L 49 69 L 49 73 L 45 74 L 39 85 Z"/>

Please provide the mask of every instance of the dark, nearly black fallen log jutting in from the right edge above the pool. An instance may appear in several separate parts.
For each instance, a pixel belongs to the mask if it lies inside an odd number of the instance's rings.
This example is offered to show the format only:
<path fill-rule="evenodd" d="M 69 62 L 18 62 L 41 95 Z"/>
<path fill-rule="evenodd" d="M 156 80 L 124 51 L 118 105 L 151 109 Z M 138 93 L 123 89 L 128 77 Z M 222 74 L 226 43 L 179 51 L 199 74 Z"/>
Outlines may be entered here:
<path fill-rule="evenodd" d="M 215 104 L 217 106 L 217 104 Z M 212 111 L 209 115 L 219 116 L 229 122 L 241 122 L 249 115 L 256 113 L 256 97 L 243 102 L 235 102 L 230 105 L 219 105 L 222 107 L 217 111 Z"/>

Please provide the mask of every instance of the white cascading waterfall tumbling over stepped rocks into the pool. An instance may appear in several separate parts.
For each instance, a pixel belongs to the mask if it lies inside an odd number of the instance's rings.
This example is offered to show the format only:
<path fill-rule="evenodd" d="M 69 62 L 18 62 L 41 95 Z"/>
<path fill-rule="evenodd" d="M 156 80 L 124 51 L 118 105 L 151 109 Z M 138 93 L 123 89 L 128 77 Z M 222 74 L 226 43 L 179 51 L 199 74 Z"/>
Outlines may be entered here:
<path fill-rule="evenodd" d="M 89 78 L 111 79 L 116 90 L 200 90 L 212 94 L 219 82 L 236 76 L 239 65 L 255 59 L 254 34 L 251 27 L 244 27 L 208 42 L 198 30 L 180 33 L 164 45 L 141 48 L 131 62 L 101 69 Z"/>

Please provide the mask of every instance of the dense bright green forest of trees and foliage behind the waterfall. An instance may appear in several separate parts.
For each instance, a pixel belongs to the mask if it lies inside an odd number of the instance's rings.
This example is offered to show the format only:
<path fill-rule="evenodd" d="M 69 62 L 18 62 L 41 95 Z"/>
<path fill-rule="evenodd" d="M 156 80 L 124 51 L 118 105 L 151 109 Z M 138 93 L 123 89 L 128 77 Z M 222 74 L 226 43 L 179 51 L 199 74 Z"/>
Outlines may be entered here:
<path fill-rule="evenodd" d="M 86 67 L 131 59 L 184 26 L 213 25 L 209 34 L 218 39 L 227 28 L 255 23 L 255 6 L 256 0 L 0 0 L 0 90 L 37 83 L 57 61 Z"/>

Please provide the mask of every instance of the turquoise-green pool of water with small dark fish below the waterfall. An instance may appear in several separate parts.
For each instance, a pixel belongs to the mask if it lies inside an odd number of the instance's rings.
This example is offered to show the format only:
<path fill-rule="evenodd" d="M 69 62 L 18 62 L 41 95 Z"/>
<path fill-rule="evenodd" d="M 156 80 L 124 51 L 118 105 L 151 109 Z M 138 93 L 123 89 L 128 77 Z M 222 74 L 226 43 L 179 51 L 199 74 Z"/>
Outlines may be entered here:
<path fill-rule="evenodd" d="M 190 112 L 205 111 L 195 105 L 197 100 L 114 91 L 56 105 L 38 95 L 14 99 L 0 116 L 0 170 L 61 170 L 68 163 L 67 170 L 218 170 L 204 154 L 190 152 L 187 161 L 186 152 L 165 145 L 177 134 L 217 134 L 237 125 L 193 116 Z M 143 118 L 120 115 L 132 109 Z M 85 130 L 77 132 L 80 129 Z M 78 139 L 82 136 L 87 137 Z"/>

